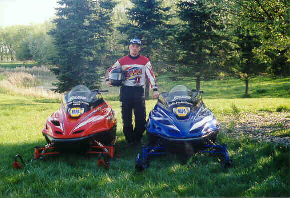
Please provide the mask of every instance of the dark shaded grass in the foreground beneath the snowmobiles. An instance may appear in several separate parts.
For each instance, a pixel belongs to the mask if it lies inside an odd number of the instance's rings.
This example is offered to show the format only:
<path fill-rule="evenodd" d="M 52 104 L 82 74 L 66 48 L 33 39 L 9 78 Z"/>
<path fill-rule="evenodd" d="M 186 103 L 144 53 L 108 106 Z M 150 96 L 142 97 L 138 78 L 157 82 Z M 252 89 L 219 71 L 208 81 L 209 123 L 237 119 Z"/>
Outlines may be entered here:
<path fill-rule="evenodd" d="M 144 138 L 146 139 L 146 137 Z M 156 156 L 144 172 L 135 171 L 140 147 L 120 138 L 110 168 L 97 156 L 55 155 L 13 170 L 16 154 L 25 162 L 45 140 L 1 145 L 0 197 L 286 197 L 289 195 L 290 149 L 221 136 L 234 167 L 224 169 L 209 155 L 181 164 L 177 155 Z M 27 196 L 25 196 L 27 195 Z"/>

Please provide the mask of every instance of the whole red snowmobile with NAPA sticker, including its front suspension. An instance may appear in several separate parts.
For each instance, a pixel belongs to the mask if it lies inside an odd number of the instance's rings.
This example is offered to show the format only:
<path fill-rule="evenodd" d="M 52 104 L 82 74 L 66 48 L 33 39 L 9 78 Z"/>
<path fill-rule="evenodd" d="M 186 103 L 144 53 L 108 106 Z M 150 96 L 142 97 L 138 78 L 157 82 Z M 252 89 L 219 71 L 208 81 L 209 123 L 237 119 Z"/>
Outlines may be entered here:
<path fill-rule="evenodd" d="M 114 157 L 117 120 L 101 92 L 77 85 L 64 94 L 60 109 L 47 118 L 42 130 L 48 144 L 35 147 L 34 159 L 73 151 L 97 154 L 98 164 L 108 167 Z"/>

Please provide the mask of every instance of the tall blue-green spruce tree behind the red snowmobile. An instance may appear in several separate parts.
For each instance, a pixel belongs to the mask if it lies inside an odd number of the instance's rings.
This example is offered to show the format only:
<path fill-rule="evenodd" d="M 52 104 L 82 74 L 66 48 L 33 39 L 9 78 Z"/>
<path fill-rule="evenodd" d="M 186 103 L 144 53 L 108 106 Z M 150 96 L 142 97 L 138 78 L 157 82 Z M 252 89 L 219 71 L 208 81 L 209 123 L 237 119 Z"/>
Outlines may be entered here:
<path fill-rule="evenodd" d="M 55 91 L 65 92 L 77 84 L 96 88 L 100 81 L 107 34 L 112 30 L 112 0 L 59 0 L 58 16 L 49 31 L 57 48 L 57 67 L 51 71 L 59 80 Z"/>

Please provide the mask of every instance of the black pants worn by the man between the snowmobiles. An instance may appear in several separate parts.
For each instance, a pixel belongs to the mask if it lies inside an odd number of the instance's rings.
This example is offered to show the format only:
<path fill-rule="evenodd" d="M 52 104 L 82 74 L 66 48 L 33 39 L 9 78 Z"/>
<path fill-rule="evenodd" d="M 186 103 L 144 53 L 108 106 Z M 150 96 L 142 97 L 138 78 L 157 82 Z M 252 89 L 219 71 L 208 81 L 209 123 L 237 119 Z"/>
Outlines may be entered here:
<path fill-rule="evenodd" d="M 120 101 L 123 119 L 123 132 L 129 143 L 140 142 L 145 131 L 146 107 L 144 88 L 142 86 L 122 86 Z M 133 129 L 133 110 L 135 128 Z"/>

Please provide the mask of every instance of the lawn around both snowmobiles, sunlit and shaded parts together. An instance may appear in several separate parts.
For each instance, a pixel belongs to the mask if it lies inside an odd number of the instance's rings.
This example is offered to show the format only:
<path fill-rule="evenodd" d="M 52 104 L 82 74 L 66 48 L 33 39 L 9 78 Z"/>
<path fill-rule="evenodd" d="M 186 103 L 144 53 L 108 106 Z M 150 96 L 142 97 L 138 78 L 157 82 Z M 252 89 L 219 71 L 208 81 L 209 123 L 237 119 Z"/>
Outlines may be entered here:
<path fill-rule="evenodd" d="M 246 102 L 250 100 L 250 102 Z M 284 101 L 284 102 L 283 102 Z M 33 160 L 34 147 L 43 146 L 46 118 L 59 103 L 43 103 L 32 97 L 0 94 L 0 197 L 288 197 L 290 148 L 227 137 L 234 167 L 224 169 L 215 158 L 195 155 L 182 163 L 176 155 L 153 158 L 144 172 L 135 172 L 140 148 L 130 148 L 122 134 L 120 103 L 109 101 L 117 112 L 116 153 L 108 170 L 97 166 L 97 157 L 50 156 Z M 147 113 L 155 100 L 146 101 Z M 219 116 L 238 109 L 275 109 L 287 99 L 206 99 Z M 233 105 L 234 104 L 234 105 Z M 248 107 L 248 104 L 253 106 Z M 229 109 L 228 111 L 226 109 Z M 237 110 L 236 110 L 237 111 Z M 144 141 L 146 136 L 144 136 Z M 22 155 L 25 168 L 13 170 L 13 156 Z M 31 161 L 31 162 L 30 162 Z"/>

